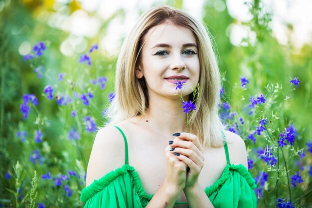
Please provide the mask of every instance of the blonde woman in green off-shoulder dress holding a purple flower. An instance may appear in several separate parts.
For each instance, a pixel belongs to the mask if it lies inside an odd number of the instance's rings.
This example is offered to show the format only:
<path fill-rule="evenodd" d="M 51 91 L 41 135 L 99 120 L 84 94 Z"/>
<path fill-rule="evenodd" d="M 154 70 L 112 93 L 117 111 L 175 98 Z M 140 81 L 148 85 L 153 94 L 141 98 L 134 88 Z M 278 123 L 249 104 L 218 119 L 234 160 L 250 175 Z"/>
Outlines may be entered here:
<path fill-rule="evenodd" d="M 256 207 L 245 144 L 218 117 L 220 75 L 201 23 L 168 6 L 144 13 L 123 43 L 115 88 L 111 122 L 91 152 L 85 207 Z M 177 94 L 195 100 L 188 127 Z"/>

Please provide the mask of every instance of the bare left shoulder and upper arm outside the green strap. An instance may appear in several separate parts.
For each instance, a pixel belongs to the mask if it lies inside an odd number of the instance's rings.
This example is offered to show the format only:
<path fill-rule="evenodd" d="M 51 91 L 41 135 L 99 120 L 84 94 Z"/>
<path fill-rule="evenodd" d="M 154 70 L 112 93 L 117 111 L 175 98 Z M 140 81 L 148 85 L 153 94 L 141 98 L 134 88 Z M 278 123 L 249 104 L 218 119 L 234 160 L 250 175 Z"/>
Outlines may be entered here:
<path fill-rule="evenodd" d="M 87 169 L 87 186 L 125 164 L 125 141 L 113 126 L 100 129 L 95 137 Z"/>

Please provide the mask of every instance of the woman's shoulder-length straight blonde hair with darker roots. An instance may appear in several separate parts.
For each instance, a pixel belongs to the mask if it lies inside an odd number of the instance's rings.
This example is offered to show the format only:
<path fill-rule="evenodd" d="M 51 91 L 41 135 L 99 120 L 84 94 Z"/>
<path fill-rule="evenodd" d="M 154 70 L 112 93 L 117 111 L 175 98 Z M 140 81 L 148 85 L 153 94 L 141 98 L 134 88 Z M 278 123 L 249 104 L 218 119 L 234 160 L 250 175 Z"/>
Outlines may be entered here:
<path fill-rule="evenodd" d="M 197 41 L 200 62 L 199 96 L 195 111 L 189 113 L 189 131 L 207 147 L 223 145 L 221 131 L 224 129 L 218 114 L 220 100 L 220 72 L 206 27 L 189 14 L 169 7 L 157 6 L 145 12 L 125 38 L 117 61 L 116 96 L 107 110 L 113 125 L 125 119 L 144 115 L 148 103 L 148 91 L 144 77 L 138 79 L 135 70 L 140 64 L 140 52 L 145 35 L 154 26 L 172 23 L 190 29 Z M 192 94 L 189 96 L 192 99 Z"/>

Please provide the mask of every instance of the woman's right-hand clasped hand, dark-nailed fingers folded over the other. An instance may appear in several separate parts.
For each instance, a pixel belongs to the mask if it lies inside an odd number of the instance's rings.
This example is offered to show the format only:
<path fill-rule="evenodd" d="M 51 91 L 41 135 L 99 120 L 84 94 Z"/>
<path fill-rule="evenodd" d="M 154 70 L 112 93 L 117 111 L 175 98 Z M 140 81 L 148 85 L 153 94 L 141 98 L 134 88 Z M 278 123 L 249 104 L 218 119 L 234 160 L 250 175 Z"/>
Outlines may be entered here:
<path fill-rule="evenodd" d="M 176 133 L 176 138 L 173 143 L 169 145 L 174 150 L 171 154 L 184 162 L 189 170 L 186 173 L 186 183 L 184 189 L 192 189 L 198 185 L 198 177 L 202 167 L 204 166 L 203 148 L 199 142 L 199 139 L 190 133 Z M 174 155 L 179 153 L 180 155 Z"/>

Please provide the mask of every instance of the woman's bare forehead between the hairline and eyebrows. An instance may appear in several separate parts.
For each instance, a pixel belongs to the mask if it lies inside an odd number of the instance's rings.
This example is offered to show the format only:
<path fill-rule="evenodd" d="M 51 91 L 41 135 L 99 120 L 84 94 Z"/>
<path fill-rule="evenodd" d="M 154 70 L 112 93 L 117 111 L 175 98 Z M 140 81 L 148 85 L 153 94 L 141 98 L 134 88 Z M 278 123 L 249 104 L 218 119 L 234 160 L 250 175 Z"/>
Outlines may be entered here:
<path fill-rule="evenodd" d="M 190 29 L 176 26 L 170 22 L 152 27 L 146 34 L 145 40 L 146 46 L 153 46 L 158 43 L 172 45 L 184 43 L 196 44 L 196 38 Z"/>

